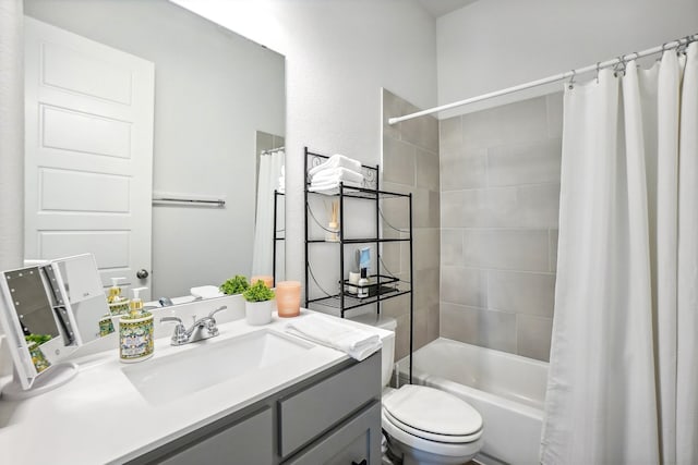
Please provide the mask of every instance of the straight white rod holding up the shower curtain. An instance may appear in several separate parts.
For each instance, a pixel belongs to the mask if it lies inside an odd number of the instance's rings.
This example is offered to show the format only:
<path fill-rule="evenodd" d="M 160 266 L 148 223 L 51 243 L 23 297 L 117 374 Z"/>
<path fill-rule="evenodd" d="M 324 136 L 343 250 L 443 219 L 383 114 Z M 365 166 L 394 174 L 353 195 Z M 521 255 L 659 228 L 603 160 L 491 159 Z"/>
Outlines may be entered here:
<path fill-rule="evenodd" d="M 480 95 L 480 96 L 477 96 L 477 97 L 467 98 L 465 100 L 455 101 L 453 103 L 442 105 L 441 107 L 434 107 L 434 108 L 430 108 L 428 110 L 417 111 L 414 113 L 406 114 L 405 117 L 389 118 L 388 119 L 388 124 L 390 124 L 390 125 L 397 124 L 400 121 L 407 121 L 407 120 L 411 120 L 411 119 L 414 119 L 414 118 L 424 117 L 426 114 L 437 113 L 437 112 L 444 111 L 444 110 L 450 110 L 452 108 L 462 107 L 462 106 L 466 106 L 466 105 L 476 103 L 478 101 L 488 100 L 490 98 L 501 97 L 501 96 L 507 95 L 507 94 L 514 94 L 514 93 L 517 93 L 519 90 L 525 90 L 525 89 L 529 89 L 529 88 L 532 88 L 532 87 L 538 87 L 538 86 L 542 86 L 542 85 L 545 85 L 545 84 L 551 84 L 551 83 L 554 83 L 556 81 L 564 81 L 564 79 L 567 79 L 567 78 L 573 78 L 574 79 L 574 77 L 577 74 L 588 73 L 590 71 L 599 71 L 599 70 L 602 70 L 602 69 L 605 69 L 605 68 L 615 66 L 615 65 L 617 65 L 619 63 L 625 64 L 629 60 L 636 60 L 638 58 L 642 58 L 642 57 L 647 57 L 647 56 L 650 56 L 650 54 L 662 52 L 664 50 L 671 50 L 673 48 L 678 48 L 681 46 L 688 45 L 688 44 L 690 44 L 693 41 L 696 41 L 696 40 L 698 40 L 698 34 L 693 34 L 693 35 L 689 35 L 689 36 L 686 36 L 686 37 L 682 37 L 681 39 L 673 40 L 671 42 L 662 44 L 661 46 L 658 46 L 658 47 L 652 47 L 652 48 L 649 48 L 647 50 L 642 50 L 640 52 L 634 51 L 633 53 L 624 54 L 624 56 L 614 58 L 612 60 L 598 62 L 597 64 L 591 64 L 589 66 L 580 68 L 580 69 L 577 69 L 577 70 L 567 71 L 566 73 L 555 74 L 554 76 L 544 77 L 544 78 L 538 79 L 538 81 L 531 81 L 530 83 L 519 84 L 518 86 L 508 87 L 508 88 L 505 88 L 505 89 L 502 89 L 502 90 L 496 90 L 496 91 L 489 93 L 489 94 L 483 94 L 483 95 Z"/>

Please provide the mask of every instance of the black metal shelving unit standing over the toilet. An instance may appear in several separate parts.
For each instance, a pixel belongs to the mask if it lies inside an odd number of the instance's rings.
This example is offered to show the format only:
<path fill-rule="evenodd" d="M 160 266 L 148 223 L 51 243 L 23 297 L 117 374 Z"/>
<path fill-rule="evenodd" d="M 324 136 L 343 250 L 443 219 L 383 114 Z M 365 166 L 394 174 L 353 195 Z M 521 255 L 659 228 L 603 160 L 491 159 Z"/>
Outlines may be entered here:
<path fill-rule="evenodd" d="M 314 215 L 311 211 L 310 197 L 314 195 L 327 196 L 326 193 L 314 193 L 309 189 L 310 176 L 309 170 L 315 166 L 326 161 L 329 157 L 321 154 L 312 152 L 305 147 L 304 149 L 304 172 L 305 172 L 305 187 L 304 187 L 304 217 L 305 217 L 305 307 L 311 308 L 312 305 L 322 305 L 325 307 L 336 308 L 339 310 L 341 318 L 345 318 L 347 311 L 364 307 L 366 305 L 376 305 L 376 311 L 381 313 L 381 304 L 389 298 L 395 298 L 400 295 L 409 295 L 410 302 L 410 380 L 411 380 L 411 356 L 412 356 L 412 331 L 413 331 L 413 294 L 412 294 L 412 279 L 413 279 L 413 260 L 412 260 L 412 194 L 401 194 L 395 192 L 382 191 L 378 183 L 380 166 L 368 167 L 362 166 L 362 174 L 364 175 L 364 183 L 362 187 L 350 187 L 339 183 L 337 193 L 334 197 L 339 200 L 339 240 L 337 242 L 328 242 L 325 238 L 310 237 L 310 221 L 311 217 L 314 219 Z M 409 210 L 409 228 L 407 231 L 407 237 L 382 237 L 381 231 L 381 200 L 388 198 L 404 198 L 407 201 L 407 208 Z M 363 199 L 366 205 L 373 205 L 374 207 L 374 221 L 375 221 L 375 236 L 371 237 L 347 237 L 345 234 L 345 206 L 347 199 Z M 353 207 L 352 207 L 353 208 Z M 309 215 L 310 213 L 310 215 Z M 315 220 L 316 221 L 316 220 Z M 322 224 L 318 224 L 321 228 Z M 404 281 L 395 276 L 382 270 L 381 260 L 381 244 L 386 243 L 408 243 L 409 244 L 409 281 Z M 311 294 L 311 262 L 313 260 L 313 248 L 316 244 L 337 244 L 337 254 L 339 255 L 339 273 L 337 279 L 338 289 L 336 293 L 324 293 L 325 295 L 312 296 Z M 347 279 L 344 278 L 346 250 L 347 245 L 360 245 L 360 244 L 374 244 L 376 249 L 375 260 L 375 273 L 372 274 L 371 284 L 369 285 L 368 297 L 357 297 L 348 292 L 348 287 L 358 287 L 356 284 L 350 284 Z M 320 246 L 318 246 L 320 247 Z M 313 277 L 314 279 L 314 277 Z M 400 285 L 408 285 L 408 289 L 400 289 Z"/>

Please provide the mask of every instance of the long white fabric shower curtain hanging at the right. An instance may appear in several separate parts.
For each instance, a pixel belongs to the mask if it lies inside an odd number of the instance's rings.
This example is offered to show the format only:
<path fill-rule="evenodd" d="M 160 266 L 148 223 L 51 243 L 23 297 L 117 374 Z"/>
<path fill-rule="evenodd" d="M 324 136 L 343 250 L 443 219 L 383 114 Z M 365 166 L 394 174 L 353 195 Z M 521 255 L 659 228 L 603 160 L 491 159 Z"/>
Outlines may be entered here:
<path fill-rule="evenodd" d="M 626 68 L 565 90 L 544 464 L 698 463 L 698 42 Z"/>

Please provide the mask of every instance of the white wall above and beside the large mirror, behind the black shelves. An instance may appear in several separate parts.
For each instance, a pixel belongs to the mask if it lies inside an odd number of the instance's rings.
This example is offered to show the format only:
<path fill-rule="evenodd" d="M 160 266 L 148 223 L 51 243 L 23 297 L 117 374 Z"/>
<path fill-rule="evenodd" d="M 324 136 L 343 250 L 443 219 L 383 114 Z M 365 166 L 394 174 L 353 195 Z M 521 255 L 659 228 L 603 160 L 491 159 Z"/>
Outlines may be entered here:
<path fill-rule="evenodd" d="M 302 279 L 302 148 L 381 157 L 381 87 L 436 103 L 435 21 L 414 0 L 173 0 L 286 56 L 287 278 Z"/>

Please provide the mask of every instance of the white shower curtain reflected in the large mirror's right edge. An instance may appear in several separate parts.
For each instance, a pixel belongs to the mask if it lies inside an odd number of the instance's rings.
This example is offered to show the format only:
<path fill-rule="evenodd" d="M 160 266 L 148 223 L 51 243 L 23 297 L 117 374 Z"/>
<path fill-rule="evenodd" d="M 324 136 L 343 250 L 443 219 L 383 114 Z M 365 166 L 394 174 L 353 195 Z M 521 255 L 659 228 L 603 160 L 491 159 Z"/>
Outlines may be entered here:
<path fill-rule="evenodd" d="M 254 223 L 252 274 L 272 276 L 274 241 L 274 189 L 278 188 L 284 150 L 263 154 L 257 173 L 257 208 Z"/>

